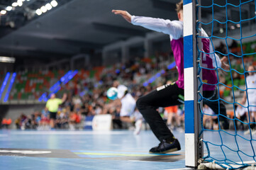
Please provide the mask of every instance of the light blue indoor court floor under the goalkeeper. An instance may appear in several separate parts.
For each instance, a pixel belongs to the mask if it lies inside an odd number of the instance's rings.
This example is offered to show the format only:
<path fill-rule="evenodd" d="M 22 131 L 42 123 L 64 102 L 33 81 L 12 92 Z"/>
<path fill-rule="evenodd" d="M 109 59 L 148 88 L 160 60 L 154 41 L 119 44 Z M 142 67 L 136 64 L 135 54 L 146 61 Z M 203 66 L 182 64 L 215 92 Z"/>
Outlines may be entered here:
<path fill-rule="evenodd" d="M 214 135 L 207 132 L 205 137 L 218 140 Z M 129 130 L 0 130 L 0 167 L 1 170 L 189 169 L 184 166 L 184 132 L 174 131 L 174 136 L 182 150 L 149 154 L 148 150 L 159 143 L 150 130 L 140 135 L 133 135 Z M 223 135 L 223 141 L 232 140 L 229 136 Z M 243 147 L 247 148 L 242 145 L 240 149 Z"/>

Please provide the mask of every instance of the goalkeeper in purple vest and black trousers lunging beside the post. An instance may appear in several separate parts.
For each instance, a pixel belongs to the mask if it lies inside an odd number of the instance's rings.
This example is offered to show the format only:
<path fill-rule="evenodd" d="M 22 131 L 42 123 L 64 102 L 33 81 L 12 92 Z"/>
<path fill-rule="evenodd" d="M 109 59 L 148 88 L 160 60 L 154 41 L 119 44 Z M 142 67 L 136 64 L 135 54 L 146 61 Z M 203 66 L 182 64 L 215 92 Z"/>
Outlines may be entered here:
<path fill-rule="evenodd" d="M 151 91 L 149 94 L 142 96 L 137 101 L 137 107 L 142 113 L 143 117 L 150 125 L 152 132 L 155 134 L 160 144 L 157 147 L 152 147 L 150 153 L 167 153 L 174 152 L 180 148 L 179 141 L 174 137 L 172 132 L 167 128 L 164 120 L 162 120 L 160 114 L 157 112 L 159 107 L 175 106 L 180 105 L 180 96 L 184 96 L 184 42 L 183 42 L 183 1 L 177 4 L 177 16 L 179 21 L 169 21 L 161 18 L 150 18 L 144 16 L 131 16 L 127 11 L 113 10 L 113 13 L 121 15 L 129 23 L 135 26 L 143 26 L 150 30 L 155 30 L 157 32 L 168 34 L 171 40 L 172 51 L 174 54 L 174 60 L 177 64 L 177 71 L 179 73 L 178 80 L 173 84 L 166 84 L 164 86 L 158 87 L 156 90 Z M 201 29 L 202 36 L 208 37 L 203 29 Z M 202 64 L 208 69 L 203 71 L 203 81 L 207 82 L 204 84 L 204 97 L 210 100 L 218 99 L 218 91 L 216 91 L 215 85 L 217 77 L 216 72 L 213 70 L 214 66 L 228 67 L 228 65 L 223 64 L 226 57 L 222 60 L 218 58 L 217 55 L 212 53 L 213 47 L 207 38 L 202 38 L 202 46 L 205 54 L 203 54 Z M 208 55 L 211 53 L 212 55 Z M 226 107 L 222 102 L 218 101 L 208 101 L 204 100 L 204 103 L 218 113 L 220 106 L 220 113 L 226 116 Z M 225 128 L 228 128 L 228 121 L 220 116 L 221 121 L 225 121 Z"/>

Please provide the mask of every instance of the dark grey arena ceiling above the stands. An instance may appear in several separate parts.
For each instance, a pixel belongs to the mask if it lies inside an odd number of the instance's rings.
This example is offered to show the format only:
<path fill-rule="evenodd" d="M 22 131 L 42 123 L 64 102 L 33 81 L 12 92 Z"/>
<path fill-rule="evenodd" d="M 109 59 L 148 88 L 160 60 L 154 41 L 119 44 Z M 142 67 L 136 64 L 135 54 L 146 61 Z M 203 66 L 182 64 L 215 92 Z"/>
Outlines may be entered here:
<path fill-rule="evenodd" d="M 0 8 L 16 0 L 0 0 Z M 101 50 L 118 40 L 144 36 L 149 30 L 135 27 L 111 13 L 123 9 L 137 16 L 177 19 L 179 0 L 57 0 L 58 6 L 43 15 L 36 8 L 50 0 L 23 1 L 23 6 L 1 16 L 0 55 L 14 57 L 69 57 Z M 221 3 L 221 0 L 218 0 Z M 211 0 L 204 0 L 211 5 Z M 216 9 L 221 11 L 221 9 Z M 225 12 L 225 11 L 224 11 Z M 204 11 L 204 16 L 211 9 Z M 221 17 L 221 16 L 220 16 Z"/>

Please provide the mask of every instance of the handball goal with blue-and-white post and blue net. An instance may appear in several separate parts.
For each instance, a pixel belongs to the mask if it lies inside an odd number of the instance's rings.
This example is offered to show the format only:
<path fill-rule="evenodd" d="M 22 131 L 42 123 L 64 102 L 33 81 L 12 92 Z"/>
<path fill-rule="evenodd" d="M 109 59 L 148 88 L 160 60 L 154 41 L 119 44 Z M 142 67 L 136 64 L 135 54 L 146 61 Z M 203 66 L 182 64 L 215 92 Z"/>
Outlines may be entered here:
<path fill-rule="evenodd" d="M 184 0 L 186 166 L 243 169 L 256 163 L 255 3 Z M 204 62 L 210 55 L 215 67 Z M 207 70 L 216 72 L 216 83 L 205 79 Z M 206 95 L 204 86 L 215 86 L 216 94 Z M 212 103 L 217 110 L 209 110 Z"/>

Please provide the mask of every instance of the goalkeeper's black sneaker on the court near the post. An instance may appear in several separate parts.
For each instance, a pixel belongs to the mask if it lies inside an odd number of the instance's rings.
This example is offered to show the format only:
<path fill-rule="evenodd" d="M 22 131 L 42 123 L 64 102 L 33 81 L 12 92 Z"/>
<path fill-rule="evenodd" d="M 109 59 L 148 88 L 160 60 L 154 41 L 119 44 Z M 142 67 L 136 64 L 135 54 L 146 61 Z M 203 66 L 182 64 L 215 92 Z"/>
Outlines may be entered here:
<path fill-rule="evenodd" d="M 165 154 L 178 150 L 180 150 L 180 145 L 177 139 L 174 139 L 173 142 L 167 142 L 166 140 L 162 140 L 162 142 L 160 142 L 157 147 L 152 147 L 150 149 L 150 154 Z"/>

